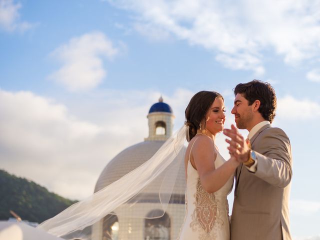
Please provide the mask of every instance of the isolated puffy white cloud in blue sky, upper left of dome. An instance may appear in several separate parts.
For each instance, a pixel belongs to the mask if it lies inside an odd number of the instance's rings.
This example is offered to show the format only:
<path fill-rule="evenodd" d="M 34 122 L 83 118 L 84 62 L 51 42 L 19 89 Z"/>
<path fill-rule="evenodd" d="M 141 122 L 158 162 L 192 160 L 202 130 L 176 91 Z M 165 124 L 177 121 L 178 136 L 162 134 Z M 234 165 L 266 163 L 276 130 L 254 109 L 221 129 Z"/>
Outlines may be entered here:
<path fill-rule="evenodd" d="M 117 53 L 118 49 L 102 32 L 74 37 L 52 52 L 63 65 L 49 78 L 71 91 L 94 88 L 106 76 L 102 57 L 112 58 Z"/>

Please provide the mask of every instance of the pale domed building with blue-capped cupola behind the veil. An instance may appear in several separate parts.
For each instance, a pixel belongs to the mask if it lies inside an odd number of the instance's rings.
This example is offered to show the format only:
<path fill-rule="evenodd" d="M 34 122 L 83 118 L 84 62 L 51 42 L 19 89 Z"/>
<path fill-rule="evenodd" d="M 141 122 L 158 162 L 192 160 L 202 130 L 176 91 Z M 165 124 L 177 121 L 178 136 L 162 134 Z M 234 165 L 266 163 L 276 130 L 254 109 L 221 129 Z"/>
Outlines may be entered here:
<path fill-rule="evenodd" d="M 148 137 L 142 142 L 125 148 L 109 161 L 96 182 L 94 192 L 144 163 L 171 136 L 174 115 L 171 107 L 163 102 L 162 97 L 150 107 L 147 118 Z M 123 212 L 115 209 L 113 214 L 105 216 L 93 225 L 92 238 L 94 240 L 176 239 L 185 215 L 184 169 L 178 172 L 175 191 L 172 192 L 165 212 L 156 201 L 159 198 L 159 184 L 156 181 L 152 182 L 151 186 L 143 189 L 141 197 L 137 198 L 134 209 L 139 212 L 140 218 L 125 216 Z M 162 216 L 152 218 L 154 215 Z"/>

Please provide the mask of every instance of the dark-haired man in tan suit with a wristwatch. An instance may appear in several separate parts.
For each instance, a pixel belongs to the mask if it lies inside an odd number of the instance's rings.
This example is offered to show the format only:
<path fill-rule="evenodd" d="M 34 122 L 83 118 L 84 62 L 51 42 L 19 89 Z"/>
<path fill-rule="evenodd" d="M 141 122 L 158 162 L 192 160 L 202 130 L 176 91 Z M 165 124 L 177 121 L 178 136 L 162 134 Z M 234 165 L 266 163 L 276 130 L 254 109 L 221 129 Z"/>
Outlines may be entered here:
<path fill-rule="evenodd" d="M 235 123 L 224 129 L 228 149 L 241 164 L 236 170 L 231 240 L 291 239 L 288 201 L 291 146 L 283 130 L 272 127 L 276 97 L 269 83 L 253 80 L 234 88 Z"/>

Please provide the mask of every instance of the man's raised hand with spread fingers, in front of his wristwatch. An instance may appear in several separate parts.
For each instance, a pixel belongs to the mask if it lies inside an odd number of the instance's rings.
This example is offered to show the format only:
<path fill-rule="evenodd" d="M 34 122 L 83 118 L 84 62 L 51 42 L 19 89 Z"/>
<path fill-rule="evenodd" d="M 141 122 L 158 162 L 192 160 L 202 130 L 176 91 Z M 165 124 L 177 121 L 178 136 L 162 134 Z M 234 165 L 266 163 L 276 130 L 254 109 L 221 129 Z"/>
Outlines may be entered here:
<path fill-rule="evenodd" d="M 232 124 L 231 129 L 224 128 L 223 133 L 231 138 L 225 139 L 225 141 L 229 143 L 227 148 L 230 155 L 236 157 L 240 162 L 247 161 L 249 159 L 250 147 L 237 128 Z"/>

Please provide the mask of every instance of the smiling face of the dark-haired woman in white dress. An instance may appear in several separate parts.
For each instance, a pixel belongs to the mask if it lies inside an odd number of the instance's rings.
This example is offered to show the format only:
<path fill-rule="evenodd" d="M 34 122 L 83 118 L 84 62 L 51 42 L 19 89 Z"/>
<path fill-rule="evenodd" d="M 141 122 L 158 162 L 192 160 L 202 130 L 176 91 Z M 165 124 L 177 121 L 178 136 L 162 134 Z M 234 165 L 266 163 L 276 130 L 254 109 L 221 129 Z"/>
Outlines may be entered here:
<path fill-rule="evenodd" d="M 205 115 L 205 128 L 213 135 L 223 130 L 225 107 L 222 97 L 217 97 Z"/>

